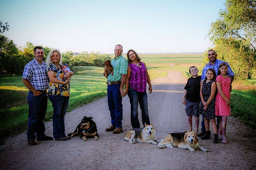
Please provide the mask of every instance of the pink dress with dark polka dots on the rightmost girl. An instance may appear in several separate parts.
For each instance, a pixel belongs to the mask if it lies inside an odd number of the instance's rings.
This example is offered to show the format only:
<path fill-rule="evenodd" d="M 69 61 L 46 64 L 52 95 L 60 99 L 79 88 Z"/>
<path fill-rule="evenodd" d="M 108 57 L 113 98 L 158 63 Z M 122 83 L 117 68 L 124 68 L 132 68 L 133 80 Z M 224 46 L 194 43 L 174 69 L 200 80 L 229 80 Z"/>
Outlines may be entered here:
<path fill-rule="evenodd" d="M 221 90 L 223 91 L 224 95 L 230 100 L 230 83 L 231 80 L 229 76 L 227 78 L 223 77 L 222 75 L 218 75 L 216 77 L 216 82 L 219 81 L 221 83 Z M 220 93 L 218 92 L 216 95 L 215 101 L 215 115 L 217 116 L 228 116 L 230 115 L 230 105 L 227 105 L 226 100 L 224 100 Z"/>

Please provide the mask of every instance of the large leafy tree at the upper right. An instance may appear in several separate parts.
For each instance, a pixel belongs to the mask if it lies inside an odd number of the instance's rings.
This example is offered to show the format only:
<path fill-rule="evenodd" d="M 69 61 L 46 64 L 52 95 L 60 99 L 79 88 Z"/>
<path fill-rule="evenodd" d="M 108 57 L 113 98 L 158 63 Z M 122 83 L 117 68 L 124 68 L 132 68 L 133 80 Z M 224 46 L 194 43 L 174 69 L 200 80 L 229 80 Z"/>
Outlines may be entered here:
<path fill-rule="evenodd" d="M 250 78 L 256 69 L 256 0 L 227 0 L 219 16 L 209 31 L 219 59 L 229 62 L 235 79 Z"/>

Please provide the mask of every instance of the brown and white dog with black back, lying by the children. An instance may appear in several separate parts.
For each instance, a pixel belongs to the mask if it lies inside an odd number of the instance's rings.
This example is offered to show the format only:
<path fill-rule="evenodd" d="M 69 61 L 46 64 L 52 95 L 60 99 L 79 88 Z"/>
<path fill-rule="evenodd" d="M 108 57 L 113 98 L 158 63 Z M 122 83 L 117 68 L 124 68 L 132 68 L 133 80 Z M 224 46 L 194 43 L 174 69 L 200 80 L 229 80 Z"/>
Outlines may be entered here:
<path fill-rule="evenodd" d="M 170 133 L 165 135 L 158 143 L 158 148 L 164 149 L 165 147 L 173 148 L 178 147 L 181 149 L 188 149 L 195 151 L 196 149 L 208 151 L 199 145 L 196 132 L 181 132 L 181 133 Z"/>

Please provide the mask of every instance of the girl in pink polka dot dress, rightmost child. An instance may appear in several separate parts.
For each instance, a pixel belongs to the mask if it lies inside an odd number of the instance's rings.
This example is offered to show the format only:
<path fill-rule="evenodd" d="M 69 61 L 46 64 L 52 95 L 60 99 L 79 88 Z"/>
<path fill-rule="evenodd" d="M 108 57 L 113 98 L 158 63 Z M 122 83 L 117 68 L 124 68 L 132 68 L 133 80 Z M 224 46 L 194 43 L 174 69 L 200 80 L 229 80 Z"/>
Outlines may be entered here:
<path fill-rule="evenodd" d="M 222 137 L 221 143 L 227 144 L 226 126 L 228 115 L 230 115 L 230 83 L 227 75 L 228 65 L 225 62 L 219 64 L 219 70 L 216 78 L 218 93 L 215 102 L 215 115 L 221 116 L 221 126 L 219 126 L 219 136 Z"/>

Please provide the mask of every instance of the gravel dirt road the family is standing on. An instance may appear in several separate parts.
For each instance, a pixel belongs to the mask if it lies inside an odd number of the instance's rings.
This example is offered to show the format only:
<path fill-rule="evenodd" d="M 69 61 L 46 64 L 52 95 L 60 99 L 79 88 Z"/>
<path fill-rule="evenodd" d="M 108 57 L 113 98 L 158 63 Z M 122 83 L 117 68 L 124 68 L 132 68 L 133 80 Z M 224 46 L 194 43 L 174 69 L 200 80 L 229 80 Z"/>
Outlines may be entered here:
<path fill-rule="evenodd" d="M 167 77 L 152 82 L 153 92 L 148 94 L 149 118 L 159 140 L 169 133 L 188 129 L 185 106 L 181 103 L 186 81 L 181 72 L 170 71 Z M 73 132 L 85 115 L 92 116 L 96 122 L 99 140 L 83 141 L 75 137 L 67 141 L 40 141 L 38 145 L 29 146 L 26 132 L 23 132 L 0 146 L 0 170 L 256 169 L 256 131 L 231 116 L 227 124 L 227 145 L 213 144 L 212 133 L 211 140 L 199 139 L 208 152 L 192 152 L 178 148 L 158 149 L 153 144 L 131 144 L 123 139 L 124 133 L 106 132 L 111 122 L 107 97 L 67 113 L 66 133 Z M 139 120 L 141 122 L 141 116 Z M 123 129 L 130 128 L 130 104 L 126 96 L 123 98 Z M 47 122 L 46 135 L 52 136 L 52 130 L 52 122 Z"/>

